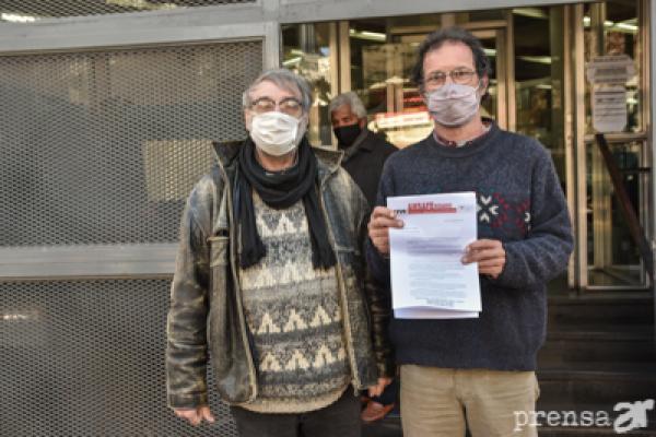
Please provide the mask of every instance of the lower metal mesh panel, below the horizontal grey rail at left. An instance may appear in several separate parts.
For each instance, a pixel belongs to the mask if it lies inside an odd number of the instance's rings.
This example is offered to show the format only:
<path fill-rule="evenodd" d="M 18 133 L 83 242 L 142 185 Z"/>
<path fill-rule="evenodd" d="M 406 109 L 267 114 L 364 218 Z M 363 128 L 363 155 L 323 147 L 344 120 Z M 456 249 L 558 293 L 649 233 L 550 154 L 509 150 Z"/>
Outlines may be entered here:
<path fill-rule="evenodd" d="M 212 426 L 166 408 L 168 290 L 166 280 L 0 284 L 0 436 L 235 436 L 215 397 Z"/>

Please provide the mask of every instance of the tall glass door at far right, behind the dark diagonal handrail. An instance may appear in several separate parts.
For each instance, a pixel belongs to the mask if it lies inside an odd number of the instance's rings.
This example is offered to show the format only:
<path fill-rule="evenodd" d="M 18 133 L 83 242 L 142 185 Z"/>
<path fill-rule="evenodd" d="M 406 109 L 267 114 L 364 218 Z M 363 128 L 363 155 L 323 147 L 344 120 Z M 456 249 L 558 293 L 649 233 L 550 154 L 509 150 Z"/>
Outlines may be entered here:
<path fill-rule="evenodd" d="M 588 290 L 646 288 L 648 279 L 637 243 L 631 237 L 623 209 L 637 216 L 645 237 L 651 240 L 653 208 L 651 202 L 652 163 L 646 129 L 648 90 L 645 71 L 647 58 L 646 21 L 641 17 L 644 1 L 611 0 L 579 5 L 583 22 L 583 47 L 579 57 L 586 67 L 599 57 L 624 57 L 634 74 L 620 85 L 625 102 L 623 128 L 606 133 L 612 161 L 618 167 L 622 188 L 612 184 L 608 166 L 595 141 L 599 113 L 595 115 L 591 102 L 606 90 L 599 83 L 584 82 L 585 99 L 579 113 L 585 118 L 577 141 L 579 162 L 577 178 L 579 199 L 578 259 L 581 285 Z M 623 189 L 630 200 L 622 204 L 617 192 Z M 584 251 L 584 252 L 583 252 Z"/>

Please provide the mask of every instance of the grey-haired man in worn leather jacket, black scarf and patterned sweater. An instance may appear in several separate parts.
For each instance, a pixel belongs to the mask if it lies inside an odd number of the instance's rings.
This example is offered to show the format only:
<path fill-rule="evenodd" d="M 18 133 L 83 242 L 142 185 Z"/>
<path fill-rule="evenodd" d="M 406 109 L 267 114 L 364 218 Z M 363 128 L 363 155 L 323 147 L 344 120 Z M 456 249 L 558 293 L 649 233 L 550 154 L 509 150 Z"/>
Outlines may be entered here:
<path fill-rule="evenodd" d="M 166 367 L 168 404 L 194 425 L 214 422 L 209 355 L 247 437 L 360 437 L 356 394 L 394 371 L 364 268 L 368 206 L 341 155 L 307 142 L 311 103 L 294 73 L 262 73 L 243 97 L 248 139 L 214 146 L 187 201 Z"/>

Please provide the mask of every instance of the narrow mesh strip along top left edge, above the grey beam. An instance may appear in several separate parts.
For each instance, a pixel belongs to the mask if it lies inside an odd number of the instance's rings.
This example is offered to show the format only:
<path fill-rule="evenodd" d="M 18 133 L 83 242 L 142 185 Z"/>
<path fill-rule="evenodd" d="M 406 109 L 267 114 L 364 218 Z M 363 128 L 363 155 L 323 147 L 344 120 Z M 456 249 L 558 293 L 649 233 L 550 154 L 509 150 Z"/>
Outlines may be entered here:
<path fill-rule="evenodd" d="M 0 2 L 0 21 L 30 23 L 40 17 L 102 15 L 253 2 L 255 0 L 3 0 Z"/>

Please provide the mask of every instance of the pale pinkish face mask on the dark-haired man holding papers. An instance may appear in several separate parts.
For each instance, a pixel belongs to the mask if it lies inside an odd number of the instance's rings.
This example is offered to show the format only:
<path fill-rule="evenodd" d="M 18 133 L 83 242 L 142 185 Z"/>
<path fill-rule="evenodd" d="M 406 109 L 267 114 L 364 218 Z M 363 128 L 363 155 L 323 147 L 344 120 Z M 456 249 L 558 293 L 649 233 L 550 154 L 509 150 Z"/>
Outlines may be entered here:
<path fill-rule="evenodd" d="M 446 83 L 426 95 L 429 111 L 440 125 L 455 128 L 471 120 L 479 110 L 478 86 Z"/>

